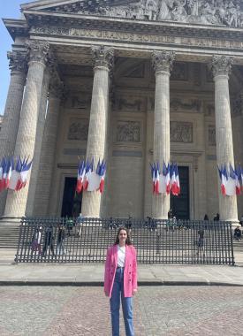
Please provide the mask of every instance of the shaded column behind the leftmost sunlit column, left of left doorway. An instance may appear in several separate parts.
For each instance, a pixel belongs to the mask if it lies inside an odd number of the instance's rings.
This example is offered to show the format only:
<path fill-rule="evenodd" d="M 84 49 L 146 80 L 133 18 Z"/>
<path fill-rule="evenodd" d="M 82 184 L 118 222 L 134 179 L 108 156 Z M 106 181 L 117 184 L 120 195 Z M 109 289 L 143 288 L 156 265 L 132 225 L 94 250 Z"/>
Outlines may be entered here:
<path fill-rule="evenodd" d="M 49 194 L 51 178 L 54 171 L 57 126 L 63 88 L 63 83 L 54 75 L 49 86 L 49 107 L 42 141 L 37 187 L 34 196 L 34 216 L 45 217 L 51 214 L 49 209 Z"/>

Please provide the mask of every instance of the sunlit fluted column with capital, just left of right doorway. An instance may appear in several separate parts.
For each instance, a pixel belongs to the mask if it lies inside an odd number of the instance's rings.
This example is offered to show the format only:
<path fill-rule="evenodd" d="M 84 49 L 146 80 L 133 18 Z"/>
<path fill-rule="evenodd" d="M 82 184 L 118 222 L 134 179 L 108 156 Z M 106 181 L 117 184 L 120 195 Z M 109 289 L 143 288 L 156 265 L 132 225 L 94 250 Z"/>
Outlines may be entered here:
<path fill-rule="evenodd" d="M 170 144 L 170 74 L 174 52 L 153 51 L 152 65 L 156 74 L 154 161 L 163 167 L 171 157 Z M 153 195 L 153 218 L 168 218 L 170 195 Z"/>

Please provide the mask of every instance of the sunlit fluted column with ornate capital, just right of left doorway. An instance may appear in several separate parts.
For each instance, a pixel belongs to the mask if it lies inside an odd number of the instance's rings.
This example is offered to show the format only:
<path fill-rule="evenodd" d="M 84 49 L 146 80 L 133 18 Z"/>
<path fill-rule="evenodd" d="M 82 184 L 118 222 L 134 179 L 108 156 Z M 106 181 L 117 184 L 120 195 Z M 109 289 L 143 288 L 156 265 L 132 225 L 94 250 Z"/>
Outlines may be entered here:
<path fill-rule="evenodd" d="M 94 82 L 90 109 L 87 159 L 94 157 L 95 164 L 103 159 L 106 152 L 107 124 L 109 110 L 109 73 L 114 59 L 114 50 L 107 47 L 92 47 L 95 61 Z M 101 214 L 100 192 L 84 192 L 82 214 L 85 217 L 99 218 Z"/>

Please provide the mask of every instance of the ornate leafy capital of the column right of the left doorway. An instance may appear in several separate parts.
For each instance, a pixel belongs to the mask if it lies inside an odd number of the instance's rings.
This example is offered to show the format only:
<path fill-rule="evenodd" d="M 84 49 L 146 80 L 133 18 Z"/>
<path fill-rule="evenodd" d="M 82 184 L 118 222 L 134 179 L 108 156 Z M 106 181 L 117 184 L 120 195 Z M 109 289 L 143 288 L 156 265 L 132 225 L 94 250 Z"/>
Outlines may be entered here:
<path fill-rule="evenodd" d="M 110 47 L 91 46 L 94 68 L 104 66 L 111 72 L 114 65 L 114 49 Z"/>

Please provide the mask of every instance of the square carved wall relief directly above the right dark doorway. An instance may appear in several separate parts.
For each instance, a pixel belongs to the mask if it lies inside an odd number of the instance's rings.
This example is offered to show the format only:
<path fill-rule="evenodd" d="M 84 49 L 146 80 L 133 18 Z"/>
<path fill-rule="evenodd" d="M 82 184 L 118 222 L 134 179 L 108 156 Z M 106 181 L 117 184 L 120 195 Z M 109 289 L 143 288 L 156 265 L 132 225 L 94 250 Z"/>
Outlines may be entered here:
<path fill-rule="evenodd" d="M 171 142 L 193 142 L 193 123 L 171 121 Z"/>

